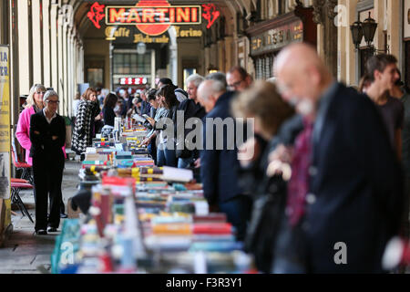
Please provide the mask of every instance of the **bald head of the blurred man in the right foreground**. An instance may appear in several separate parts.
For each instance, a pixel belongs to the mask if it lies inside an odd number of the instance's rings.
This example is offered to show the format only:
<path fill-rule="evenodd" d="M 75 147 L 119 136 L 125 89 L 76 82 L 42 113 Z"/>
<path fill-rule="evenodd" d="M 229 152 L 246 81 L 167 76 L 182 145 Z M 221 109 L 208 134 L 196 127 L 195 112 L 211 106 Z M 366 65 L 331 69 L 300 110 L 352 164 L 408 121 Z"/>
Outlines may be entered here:
<path fill-rule="evenodd" d="M 333 81 L 315 48 L 304 43 L 285 47 L 273 68 L 283 99 L 294 104 L 303 99 L 315 103 Z"/>

